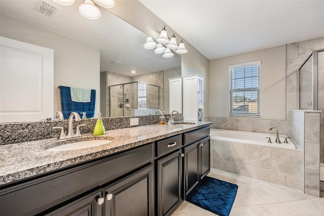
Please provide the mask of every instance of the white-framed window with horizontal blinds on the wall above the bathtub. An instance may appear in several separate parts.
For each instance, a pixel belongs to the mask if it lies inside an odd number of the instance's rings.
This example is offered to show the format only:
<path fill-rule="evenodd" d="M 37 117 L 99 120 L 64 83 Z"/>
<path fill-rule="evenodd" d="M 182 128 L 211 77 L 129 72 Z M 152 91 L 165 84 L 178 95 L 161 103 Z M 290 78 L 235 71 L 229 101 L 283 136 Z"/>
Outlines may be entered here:
<path fill-rule="evenodd" d="M 260 64 L 255 61 L 229 66 L 229 115 L 260 116 Z"/>

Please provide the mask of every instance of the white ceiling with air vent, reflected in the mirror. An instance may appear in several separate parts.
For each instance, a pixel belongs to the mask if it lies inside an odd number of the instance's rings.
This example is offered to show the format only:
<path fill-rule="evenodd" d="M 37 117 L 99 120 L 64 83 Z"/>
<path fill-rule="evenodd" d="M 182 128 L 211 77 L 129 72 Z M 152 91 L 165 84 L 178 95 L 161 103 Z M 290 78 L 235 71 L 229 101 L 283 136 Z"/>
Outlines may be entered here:
<path fill-rule="evenodd" d="M 146 50 L 143 46 L 147 36 L 145 33 L 102 7 L 99 7 L 101 17 L 89 20 L 78 12 L 78 6 L 84 0 L 76 0 L 71 6 L 45 0 L 56 7 L 53 16 L 48 17 L 34 10 L 37 2 L 38 0 L 0 0 L 0 15 L 10 16 L 100 49 L 100 71 L 133 77 L 181 66 L 180 55 L 175 53 L 171 58 L 164 58 L 155 54 L 154 50 Z M 121 63 L 113 64 L 113 60 Z M 135 70 L 136 74 L 132 74 L 131 70 Z"/>

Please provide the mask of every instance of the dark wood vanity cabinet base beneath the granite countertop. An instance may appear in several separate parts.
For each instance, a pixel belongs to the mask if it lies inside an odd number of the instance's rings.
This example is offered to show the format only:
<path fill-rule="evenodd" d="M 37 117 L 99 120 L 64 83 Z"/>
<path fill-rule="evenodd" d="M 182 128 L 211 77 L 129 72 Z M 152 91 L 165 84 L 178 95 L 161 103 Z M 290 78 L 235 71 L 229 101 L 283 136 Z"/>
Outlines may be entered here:
<path fill-rule="evenodd" d="M 210 171 L 209 126 L 0 188 L 0 215 L 171 215 Z"/>

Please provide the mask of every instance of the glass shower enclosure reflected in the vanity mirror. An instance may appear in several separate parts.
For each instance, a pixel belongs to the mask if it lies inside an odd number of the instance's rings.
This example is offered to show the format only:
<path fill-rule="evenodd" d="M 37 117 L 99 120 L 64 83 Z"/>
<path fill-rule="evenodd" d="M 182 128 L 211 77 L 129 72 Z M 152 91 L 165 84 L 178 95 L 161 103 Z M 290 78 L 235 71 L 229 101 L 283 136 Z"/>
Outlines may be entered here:
<path fill-rule="evenodd" d="M 109 116 L 153 115 L 160 108 L 160 87 L 130 82 L 108 86 Z"/>

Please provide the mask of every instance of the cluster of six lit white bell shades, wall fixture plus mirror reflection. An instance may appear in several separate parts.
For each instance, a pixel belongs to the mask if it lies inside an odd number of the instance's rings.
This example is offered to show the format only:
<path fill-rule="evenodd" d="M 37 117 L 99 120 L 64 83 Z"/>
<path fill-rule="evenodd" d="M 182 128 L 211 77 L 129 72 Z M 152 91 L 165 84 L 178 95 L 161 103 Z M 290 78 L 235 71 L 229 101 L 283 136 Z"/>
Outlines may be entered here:
<path fill-rule="evenodd" d="M 145 49 L 151 50 L 155 48 L 154 53 L 163 54 L 162 56 L 165 58 L 170 58 L 174 55 L 170 49 L 174 50 L 176 53 L 179 54 L 184 54 L 188 52 L 188 50 L 186 50 L 186 48 L 184 47 L 184 43 L 182 40 L 180 41 L 179 44 L 177 44 L 175 33 L 173 33 L 171 39 L 169 39 L 166 26 L 164 26 L 161 31 L 157 31 L 157 30 L 155 31 L 159 33 L 159 36 L 156 39 L 157 44 L 152 39 L 152 37 L 147 36 L 146 43 L 144 44 Z"/>

